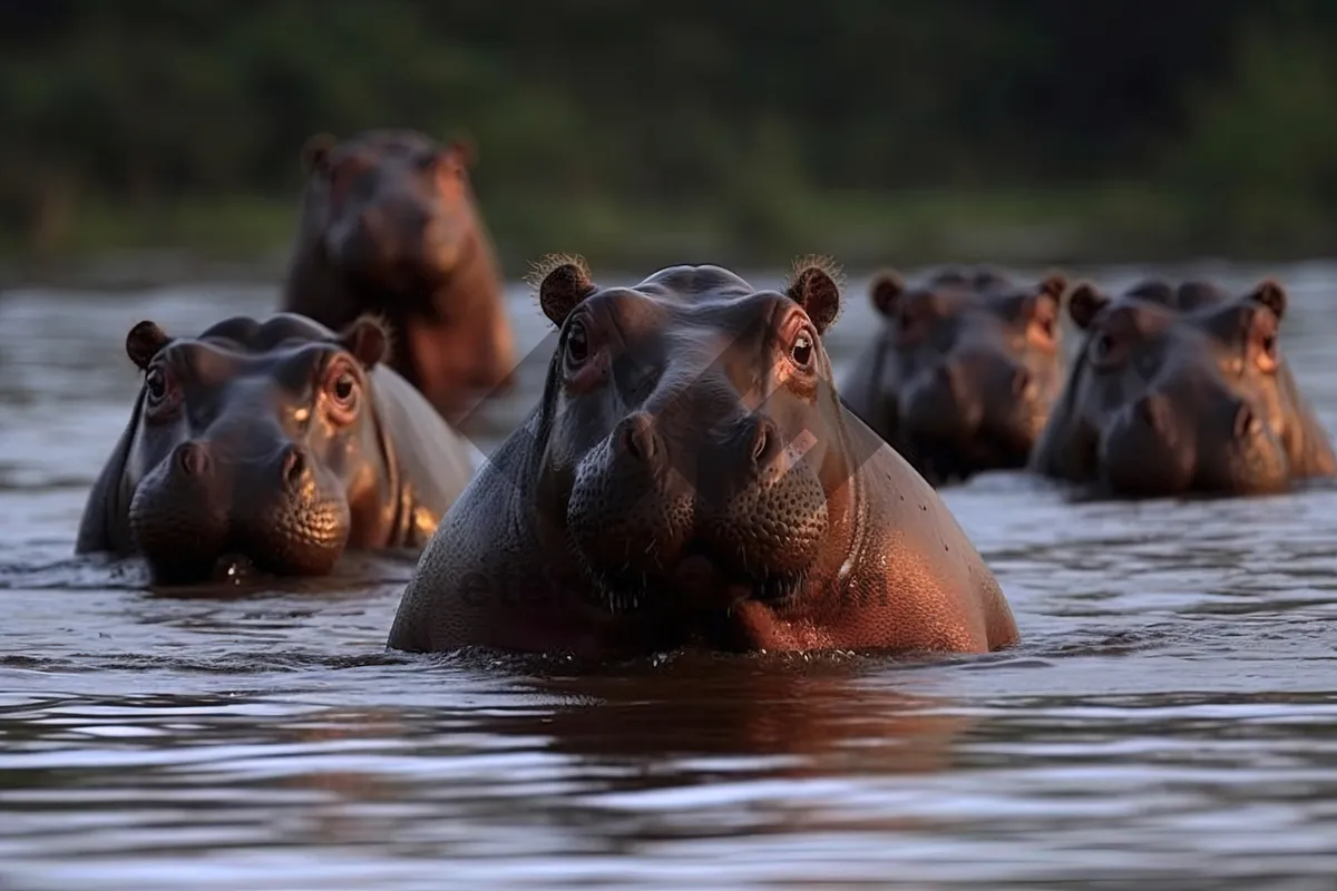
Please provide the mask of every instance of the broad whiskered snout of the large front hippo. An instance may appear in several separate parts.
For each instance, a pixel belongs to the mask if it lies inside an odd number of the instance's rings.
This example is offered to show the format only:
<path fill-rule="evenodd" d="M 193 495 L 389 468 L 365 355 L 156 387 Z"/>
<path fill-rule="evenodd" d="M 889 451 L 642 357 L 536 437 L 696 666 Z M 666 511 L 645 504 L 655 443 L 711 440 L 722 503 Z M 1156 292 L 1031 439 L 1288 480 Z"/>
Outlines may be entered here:
<path fill-rule="evenodd" d="M 690 576 L 746 596 L 785 588 L 777 580 L 817 558 L 829 521 L 813 469 L 773 418 L 722 426 L 634 411 L 580 462 L 566 524 L 606 593 L 690 594 Z"/>

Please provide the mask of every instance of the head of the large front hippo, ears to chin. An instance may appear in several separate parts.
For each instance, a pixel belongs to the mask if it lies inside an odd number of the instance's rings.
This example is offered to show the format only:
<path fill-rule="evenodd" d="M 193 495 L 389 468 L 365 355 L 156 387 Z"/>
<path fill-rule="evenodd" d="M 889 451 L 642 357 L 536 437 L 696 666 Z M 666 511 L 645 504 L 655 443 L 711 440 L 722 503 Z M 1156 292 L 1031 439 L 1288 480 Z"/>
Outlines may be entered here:
<path fill-rule="evenodd" d="M 801 262 L 779 291 L 718 266 L 600 287 L 579 258 L 535 278 L 560 327 L 540 534 L 606 609 L 796 596 L 846 481 L 821 339 L 840 309 L 833 270 Z"/>

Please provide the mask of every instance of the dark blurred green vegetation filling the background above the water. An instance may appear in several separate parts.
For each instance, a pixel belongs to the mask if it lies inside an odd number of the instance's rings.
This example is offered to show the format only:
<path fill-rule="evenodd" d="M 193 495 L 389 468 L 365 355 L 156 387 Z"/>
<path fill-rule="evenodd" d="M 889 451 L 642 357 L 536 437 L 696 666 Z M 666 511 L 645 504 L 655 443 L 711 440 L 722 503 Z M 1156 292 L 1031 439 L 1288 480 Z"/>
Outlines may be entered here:
<path fill-rule="evenodd" d="M 0 254 L 281 256 L 305 139 L 408 126 L 512 274 L 1304 256 L 1333 110 L 1332 0 L 0 0 Z"/>

